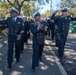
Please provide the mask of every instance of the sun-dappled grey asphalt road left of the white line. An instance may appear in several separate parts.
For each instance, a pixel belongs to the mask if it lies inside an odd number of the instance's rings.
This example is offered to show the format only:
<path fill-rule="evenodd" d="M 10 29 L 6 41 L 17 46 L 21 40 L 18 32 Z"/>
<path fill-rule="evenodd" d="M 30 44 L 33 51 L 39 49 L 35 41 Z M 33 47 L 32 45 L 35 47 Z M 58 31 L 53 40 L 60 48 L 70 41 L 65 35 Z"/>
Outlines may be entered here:
<path fill-rule="evenodd" d="M 4 44 L 4 41 L 5 44 Z M 31 58 L 32 58 L 32 42 L 29 40 L 29 45 L 25 45 L 24 53 L 21 55 L 20 62 L 18 64 L 13 62 L 13 67 L 10 71 L 5 69 L 7 65 L 7 38 L 4 38 L 0 43 L 3 45 L 0 48 L 0 75 L 62 75 L 60 68 L 56 62 L 55 56 L 51 52 L 52 49 L 49 45 L 49 40 L 46 40 L 43 62 L 40 62 L 40 66 L 36 69 L 35 73 L 30 71 Z M 60 63 L 59 63 L 60 64 Z"/>

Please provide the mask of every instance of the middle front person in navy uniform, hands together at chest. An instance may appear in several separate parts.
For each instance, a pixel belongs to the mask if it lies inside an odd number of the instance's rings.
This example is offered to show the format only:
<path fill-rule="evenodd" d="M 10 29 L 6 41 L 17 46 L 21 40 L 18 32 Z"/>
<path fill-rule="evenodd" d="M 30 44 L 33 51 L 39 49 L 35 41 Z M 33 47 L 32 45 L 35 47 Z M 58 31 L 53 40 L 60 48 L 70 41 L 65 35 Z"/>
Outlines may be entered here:
<path fill-rule="evenodd" d="M 44 48 L 44 40 L 46 35 L 45 22 L 41 21 L 39 12 L 34 14 L 35 21 L 31 25 L 31 32 L 33 34 L 33 56 L 32 56 L 32 71 L 39 66 L 39 60 L 42 59 L 42 52 Z"/>

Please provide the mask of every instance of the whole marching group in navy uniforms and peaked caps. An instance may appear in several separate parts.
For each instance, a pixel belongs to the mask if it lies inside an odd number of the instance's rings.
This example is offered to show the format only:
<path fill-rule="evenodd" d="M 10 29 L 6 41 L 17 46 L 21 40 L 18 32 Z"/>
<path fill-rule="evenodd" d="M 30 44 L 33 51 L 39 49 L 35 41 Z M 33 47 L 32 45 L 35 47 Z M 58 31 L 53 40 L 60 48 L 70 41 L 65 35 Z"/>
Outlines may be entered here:
<path fill-rule="evenodd" d="M 44 48 L 45 36 L 50 36 L 52 42 L 55 42 L 58 47 L 58 55 L 60 62 L 64 57 L 64 48 L 68 36 L 70 21 L 76 21 L 68 15 L 67 8 L 61 10 L 62 15 L 55 11 L 49 19 L 42 20 L 41 14 L 36 12 L 34 20 L 21 18 L 18 16 L 18 10 L 11 8 L 10 17 L 0 21 L 0 27 L 8 28 L 8 53 L 6 69 L 11 69 L 13 62 L 13 48 L 15 45 L 15 59 L 18 63 L 20 55 L 24 50 L 24 43 L 28 45 L 30 33 L 33 34 L 33 55 L 31 70 L 35 71 L 35 67 L 39 66 L 39 61 L 42 61 L 42 53 Z"/>

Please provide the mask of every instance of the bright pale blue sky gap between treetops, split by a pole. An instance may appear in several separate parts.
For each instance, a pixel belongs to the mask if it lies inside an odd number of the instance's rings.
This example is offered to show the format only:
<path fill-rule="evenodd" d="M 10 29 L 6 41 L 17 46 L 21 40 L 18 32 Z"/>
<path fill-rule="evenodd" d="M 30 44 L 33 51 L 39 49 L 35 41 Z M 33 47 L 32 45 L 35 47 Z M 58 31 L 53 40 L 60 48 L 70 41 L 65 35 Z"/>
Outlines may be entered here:
<path fill-rule="evenodd" d="M 61 0 L 52 0 L 52 9 L 53 10 L 59 9 L 60 8 L 60 3 L 61 3 Z M 44 13 L 46 10 L 51 9 L 51 4 L 46 3 L 46 5 L 43 5 L 42 7 L 43 7 L 43 9 L 40 9 L 39 11 L 41 13 Z"/>

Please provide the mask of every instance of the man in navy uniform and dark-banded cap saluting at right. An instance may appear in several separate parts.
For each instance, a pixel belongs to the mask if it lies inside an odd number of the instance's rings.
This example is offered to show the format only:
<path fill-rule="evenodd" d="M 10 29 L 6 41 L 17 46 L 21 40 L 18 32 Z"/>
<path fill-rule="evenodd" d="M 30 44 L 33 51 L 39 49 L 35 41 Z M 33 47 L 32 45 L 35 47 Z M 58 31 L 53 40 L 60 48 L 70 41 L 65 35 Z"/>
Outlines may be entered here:
<path fill-rule="evenodd" d="M 57 25 L 57 37 L 58 37 L 58 55 L 60 62 L 62 62 L 64 56 L 64 47 L 68 36 L 70 21 L 76 21 L 76 18 L 72 18 L 68 15 L 68 9 L 63 8 L 61 10 L 61 16 L 55 16 L 58 11 L 55 11 L 52 15 L 52 19 Z"/>

